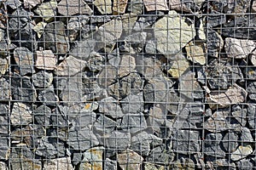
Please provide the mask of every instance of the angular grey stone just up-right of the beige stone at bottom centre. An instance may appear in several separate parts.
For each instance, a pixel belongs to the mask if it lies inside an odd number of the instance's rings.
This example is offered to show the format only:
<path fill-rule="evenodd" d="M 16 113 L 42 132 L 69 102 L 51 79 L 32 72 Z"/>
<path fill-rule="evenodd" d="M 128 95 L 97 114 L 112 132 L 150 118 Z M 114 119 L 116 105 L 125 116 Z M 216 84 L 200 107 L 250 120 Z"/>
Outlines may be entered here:
<path fill-rule="evenodd" d="M 137 133 L 131 138 L 131 150 L 136 151 L 141 156 L 148 156 L 150 148 L 162 144 L 162 139 L 151 133 Z"/>

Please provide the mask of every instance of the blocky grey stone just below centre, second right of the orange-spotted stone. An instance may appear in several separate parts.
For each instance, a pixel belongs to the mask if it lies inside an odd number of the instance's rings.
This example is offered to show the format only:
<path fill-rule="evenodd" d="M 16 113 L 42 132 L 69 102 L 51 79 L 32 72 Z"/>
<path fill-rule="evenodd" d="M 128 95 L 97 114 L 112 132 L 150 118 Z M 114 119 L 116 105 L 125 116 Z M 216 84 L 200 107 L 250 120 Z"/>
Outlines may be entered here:
<path fill-rule="evenodd" d="M 138 113 L 143 111 L 143 93 L 128 95 L 125 99 L 120 100 L 120 104 L 123 109 L 123 113 Z"/>

